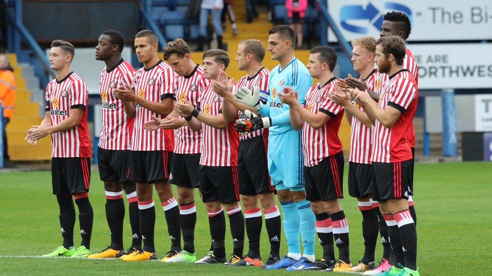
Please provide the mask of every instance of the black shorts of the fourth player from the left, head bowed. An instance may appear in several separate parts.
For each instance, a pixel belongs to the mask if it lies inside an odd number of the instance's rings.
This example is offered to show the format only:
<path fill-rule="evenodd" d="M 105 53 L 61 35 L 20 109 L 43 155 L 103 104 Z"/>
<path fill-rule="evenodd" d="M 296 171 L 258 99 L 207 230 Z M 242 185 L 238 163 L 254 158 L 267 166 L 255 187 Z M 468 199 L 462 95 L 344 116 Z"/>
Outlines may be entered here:
<path fill-rule="evenodd" d="M 180 187 L 198 188 L 200 185 L 199 162 L 200 153 L 173 153 L 169 182 Z"/>

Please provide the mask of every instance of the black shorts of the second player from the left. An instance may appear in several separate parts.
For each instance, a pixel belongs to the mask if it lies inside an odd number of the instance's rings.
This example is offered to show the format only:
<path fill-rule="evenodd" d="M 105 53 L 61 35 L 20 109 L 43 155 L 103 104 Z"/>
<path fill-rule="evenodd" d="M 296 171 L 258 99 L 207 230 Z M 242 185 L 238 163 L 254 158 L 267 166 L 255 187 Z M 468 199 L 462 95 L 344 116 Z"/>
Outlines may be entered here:
<path fill-rule="evenodd" d="M 102 181 L 129 182 L 130 151 L 97 147 L 97 166 Z"/>

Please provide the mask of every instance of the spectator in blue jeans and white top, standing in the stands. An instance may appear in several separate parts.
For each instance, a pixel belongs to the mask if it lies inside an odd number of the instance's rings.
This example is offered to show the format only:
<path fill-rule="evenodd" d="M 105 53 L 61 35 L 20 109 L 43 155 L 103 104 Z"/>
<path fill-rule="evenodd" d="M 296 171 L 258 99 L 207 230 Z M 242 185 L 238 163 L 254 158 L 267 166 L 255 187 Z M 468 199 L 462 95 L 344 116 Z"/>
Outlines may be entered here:
<path fill-rule="evenodd" d="M 222 26 L 220 24 L 220 16 L 222 14 L 222 9 L 224 8 L 223 0 L 202 0 L 200 10 L 200 36 L 198 38 L 198 49 L 197 51 L 203 51 L 203 45 L 207 39 L 207 25 L 208 16 L 212 14 L 212 21 L 215 29 L 215 34 L 217 35 L 217 48 L 223 49 L 222 44 Z"/>

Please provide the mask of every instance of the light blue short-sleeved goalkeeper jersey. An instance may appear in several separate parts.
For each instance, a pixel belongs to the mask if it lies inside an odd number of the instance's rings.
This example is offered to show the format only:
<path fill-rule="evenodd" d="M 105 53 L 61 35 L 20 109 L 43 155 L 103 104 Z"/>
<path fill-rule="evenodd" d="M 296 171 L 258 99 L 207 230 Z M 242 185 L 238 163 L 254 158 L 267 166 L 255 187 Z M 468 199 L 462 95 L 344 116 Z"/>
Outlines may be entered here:
<path fill-rule="evenodd" d="M 284 105 L 278 93 L 283 93 L 285 86 L 290 86 L 292 90 L 298 91 L 298 101 L 304 104 L 304 98 L 313 84 L 313 78 L 307 68 L 297 58 L 293 58 L 282 70 L 280 64 L 270 72 L 268 79 L 267 103 L 260 110 L 260 114 L 272 119 L 272 126 L 269 128 L 270 135 L 277 135 L 292 130 L 289 118 L 289 106 Z"/>

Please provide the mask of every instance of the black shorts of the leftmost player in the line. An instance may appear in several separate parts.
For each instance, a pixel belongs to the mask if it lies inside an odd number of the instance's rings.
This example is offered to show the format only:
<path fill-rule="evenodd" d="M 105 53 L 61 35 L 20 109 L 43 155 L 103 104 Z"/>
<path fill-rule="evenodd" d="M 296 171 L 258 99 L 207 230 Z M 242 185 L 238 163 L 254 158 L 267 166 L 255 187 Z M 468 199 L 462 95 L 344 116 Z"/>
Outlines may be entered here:
<path fill-rule="evenodd" d="M 70 196 L 89 192 L 91 183 L 91 158 L 51 158 L 51 183 L 53 195 Z"/>

